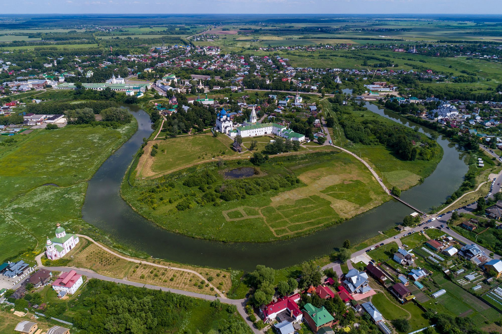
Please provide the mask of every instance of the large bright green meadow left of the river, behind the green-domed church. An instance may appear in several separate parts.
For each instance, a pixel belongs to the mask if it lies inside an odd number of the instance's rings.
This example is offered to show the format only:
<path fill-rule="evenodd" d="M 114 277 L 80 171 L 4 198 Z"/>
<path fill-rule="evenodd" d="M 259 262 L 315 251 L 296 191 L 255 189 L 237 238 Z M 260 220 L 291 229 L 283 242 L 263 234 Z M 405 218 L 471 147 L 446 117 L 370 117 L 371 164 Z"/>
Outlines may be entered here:
<path fill-rule="evenodd" d="M 60 222 L 67 231 L 80 219 L 85 183 L 112 150 L 136 131 L 136 121 L 118 130 L 66 126 L 17 135 L 0 150 L 0 236 L 6 246 L 0 260 L 41 249 Z"/>

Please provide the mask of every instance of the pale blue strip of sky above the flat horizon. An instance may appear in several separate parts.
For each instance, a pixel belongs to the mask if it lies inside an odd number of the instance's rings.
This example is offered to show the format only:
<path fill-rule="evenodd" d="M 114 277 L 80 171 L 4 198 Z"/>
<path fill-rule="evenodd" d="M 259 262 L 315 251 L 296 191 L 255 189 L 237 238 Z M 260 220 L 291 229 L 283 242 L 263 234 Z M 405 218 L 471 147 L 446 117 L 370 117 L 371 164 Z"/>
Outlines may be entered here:
<path fill-rule="evenodd" d="M 0 0 L 0 5 L 4 14 L 502 14 L 502 0 Z"/>

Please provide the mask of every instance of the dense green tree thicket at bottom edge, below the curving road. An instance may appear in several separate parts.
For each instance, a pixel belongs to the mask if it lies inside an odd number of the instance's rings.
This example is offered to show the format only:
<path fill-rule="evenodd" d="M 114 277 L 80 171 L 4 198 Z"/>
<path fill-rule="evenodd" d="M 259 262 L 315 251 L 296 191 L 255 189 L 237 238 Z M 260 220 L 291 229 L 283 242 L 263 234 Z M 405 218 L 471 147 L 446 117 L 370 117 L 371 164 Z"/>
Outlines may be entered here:
<path fill-rule="evenodd" d="M 203 302 L 171 292 L 90 279 L 71 308 L 75 312 L 74 326 L 95 334 L 165 333 L 183 332 L 183 327 L 191 320 L 190 312 Z M 218 302 L 210 305 L 213 314 L 209 317 L 218 319 L 218 328 L 211 328 L 208 332 L 251 332 L 234 305 Z"/>

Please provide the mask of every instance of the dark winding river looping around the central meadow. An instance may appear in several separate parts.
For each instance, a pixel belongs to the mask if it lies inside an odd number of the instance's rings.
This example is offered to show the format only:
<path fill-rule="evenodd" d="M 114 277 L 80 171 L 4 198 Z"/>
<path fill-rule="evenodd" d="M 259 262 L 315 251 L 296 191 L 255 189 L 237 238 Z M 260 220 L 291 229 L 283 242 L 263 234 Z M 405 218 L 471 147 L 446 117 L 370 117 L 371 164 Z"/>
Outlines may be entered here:
<path fill-rule="evenodd" d="M 415 127 L 407 119 L 384 112 L 375 105 L 367 108 L 406 126 Z M 82 207 L 82 218 L 113 239 L 153 257 L 171 261 L 210 266 L 253 270 L 257 264 L 274 268 L 298 264 L 319 257 L 340 247 L 343 240 L 353 244 L 368 239 L 402 221 L 412 210 L 397 201 L 388 201 L 340 225 L 326 228 L 304 237 L 269 243 L 223 243 L 186 237 L 157 227 L 137 214 L 119 195 L 120 183 L 143 138 L 153 132 L 149 115 L 138 108 L 129 107 L 138 120 L 138 131 L 101 165 L 89 180 Z M 430 132 L 421 126 L 421 132 Z M 443 159 L 424 183 L 404 191 L 401 197 L 422 211 L 438 206 L 463 181 L 467 165 L 446 138 L 439 137 Z"/>

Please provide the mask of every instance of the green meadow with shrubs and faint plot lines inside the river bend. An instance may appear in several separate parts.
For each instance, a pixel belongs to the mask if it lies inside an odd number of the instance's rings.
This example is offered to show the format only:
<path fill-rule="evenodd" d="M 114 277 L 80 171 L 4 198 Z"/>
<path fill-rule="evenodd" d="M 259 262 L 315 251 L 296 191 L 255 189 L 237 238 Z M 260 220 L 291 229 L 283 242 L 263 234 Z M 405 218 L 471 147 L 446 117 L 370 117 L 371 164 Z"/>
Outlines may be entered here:
<path fill-rule="evenodd" d="M 159 146 L 160 147 L 160 146 Z M 170 231 L 223 241 L 264 242 L 310 233 L 387 200 L 370 172 L 349 154 L 276 156 L 260 166 L 219 160 L 153 180 L 122 183 L 140 214 Z M 243 179 L 225 173 L 254 169 Z"/>

